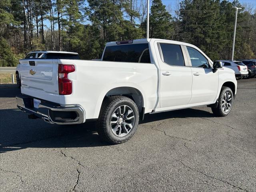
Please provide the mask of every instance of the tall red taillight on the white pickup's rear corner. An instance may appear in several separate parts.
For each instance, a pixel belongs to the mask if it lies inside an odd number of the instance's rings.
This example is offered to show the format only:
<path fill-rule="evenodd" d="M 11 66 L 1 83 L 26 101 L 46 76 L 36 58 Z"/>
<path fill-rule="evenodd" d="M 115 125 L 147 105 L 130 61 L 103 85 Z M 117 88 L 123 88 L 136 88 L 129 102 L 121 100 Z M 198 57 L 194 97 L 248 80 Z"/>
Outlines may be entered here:
<path fill-rule="evenodd" d="M 72 93 L 72 81 L 68 79 L 68 73 L 74 72 L 75 70 L 74 65 L 59 64 L 58 82 L 60 95 L 70 95 Z"/>

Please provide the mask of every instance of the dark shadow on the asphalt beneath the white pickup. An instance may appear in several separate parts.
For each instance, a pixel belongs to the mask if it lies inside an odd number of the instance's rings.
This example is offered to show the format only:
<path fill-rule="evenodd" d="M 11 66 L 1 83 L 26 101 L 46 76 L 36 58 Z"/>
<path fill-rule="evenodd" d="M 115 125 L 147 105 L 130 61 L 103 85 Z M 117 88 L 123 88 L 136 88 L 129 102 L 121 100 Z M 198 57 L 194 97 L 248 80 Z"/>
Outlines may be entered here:
<path fill-rule="evenodd" d="M 26 148 L 76 148 L 108 146 L 97 134 L 95 122 L 78 125 L 52 125 L 41 119 L 28 119 L 18 109 L 0 110 L 0 153 Z M 213 117 L 200 109 L 183 109 L 146 114 L 140 124 L 168 118 Z"/>

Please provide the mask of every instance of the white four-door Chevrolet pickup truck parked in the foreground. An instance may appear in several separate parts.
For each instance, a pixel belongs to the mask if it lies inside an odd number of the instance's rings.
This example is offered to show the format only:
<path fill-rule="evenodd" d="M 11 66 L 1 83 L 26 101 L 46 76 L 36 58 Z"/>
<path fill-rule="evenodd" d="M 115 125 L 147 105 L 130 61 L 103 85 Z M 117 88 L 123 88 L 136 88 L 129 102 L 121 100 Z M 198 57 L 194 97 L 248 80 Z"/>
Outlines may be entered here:
<path fill-rule="evenodd" d="M 126 142 L 139 119 L 207 105 L 230 113 L 237 82 L 234 71 L 212 62 L 194 45 L 162 39 L 106 44 L 101 60 L 22 59 L 18 108 L 51 124 L 97 120 L 98 134 Z"/>

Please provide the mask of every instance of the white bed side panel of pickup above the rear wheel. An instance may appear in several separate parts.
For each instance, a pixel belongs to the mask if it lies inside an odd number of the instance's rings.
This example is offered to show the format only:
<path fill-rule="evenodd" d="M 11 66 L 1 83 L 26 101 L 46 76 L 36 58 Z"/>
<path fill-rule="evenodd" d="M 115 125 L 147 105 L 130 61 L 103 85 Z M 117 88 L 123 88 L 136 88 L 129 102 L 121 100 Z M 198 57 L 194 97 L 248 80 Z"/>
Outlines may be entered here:
<path fill-rule="evenodd" d="M 104 96 L 117 87 L 138 89 L 144 99 L 145 113 L 156 104 L 157 69 L 154 64 L 91 60 L 58 60 L 58 63 L 76 66 L 76 71 L 68 74 L 73 92 L 60 96 L 60 104 L 81 105 L 86 119 L 98 118 Z"/>

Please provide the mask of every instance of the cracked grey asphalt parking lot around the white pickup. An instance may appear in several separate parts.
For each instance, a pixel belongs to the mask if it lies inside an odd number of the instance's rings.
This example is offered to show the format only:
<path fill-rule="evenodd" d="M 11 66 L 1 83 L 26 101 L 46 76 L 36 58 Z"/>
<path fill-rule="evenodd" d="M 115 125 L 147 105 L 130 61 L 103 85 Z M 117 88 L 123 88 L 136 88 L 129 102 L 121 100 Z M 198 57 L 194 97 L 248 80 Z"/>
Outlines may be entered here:
<path fill-rule="evenodd" d="M 238 81 L 232 112 L 150 114 L 134 137 L 102 142 L 93 123 L 51 125 L 0 85 L 0 191 L 256 191 L 256 78 Z"/>

